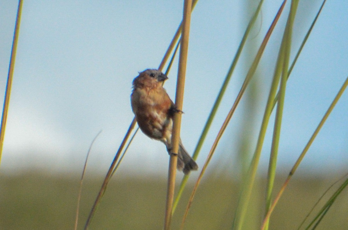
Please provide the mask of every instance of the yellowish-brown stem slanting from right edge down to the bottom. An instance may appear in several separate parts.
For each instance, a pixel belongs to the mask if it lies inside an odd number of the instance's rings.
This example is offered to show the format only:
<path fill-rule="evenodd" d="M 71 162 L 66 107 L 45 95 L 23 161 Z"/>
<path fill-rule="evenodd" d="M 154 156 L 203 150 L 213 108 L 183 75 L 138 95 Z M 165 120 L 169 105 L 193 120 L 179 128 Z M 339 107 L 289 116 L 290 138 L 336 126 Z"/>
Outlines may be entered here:
<path fill-rule="evenodd" d="M 337 104 L 338 100 L 340 99 L 342 93 L 345 91 L 345 89 L 347 88 L 348 85 L 348 77 L 346 78 L 345 82 L 343 83 L 342 87 L 340 88 L 339 92 L 337 93 L 337 95 L 335 96 L 334 100 L 332 101 L 329 109 L 327 109 L 327 111 L 324 114 L 324 117 L 322 118 L 322 120 L 319 122 L 319 125 L 317 126 L 317 128 L 315 129 L 313 135 L 310 137 L 310 139 L 308 140 L 308 143 L 306 144 L 306 146 L 304 147 L 302 153 L 300 154 L 299 158 L 297 159 L 297 161 L 295 162 L 293 168 L 291 169 L 289 175 L 287 176 L 283 186 L 280 188 L 274 202 L 272 203 L 271 207 L 269 208 L 264 220 L 263 220 L 263 226 L 262 229 L 264 229 L 264 225 L 267 221 L 267 219 L 269 219 L 272 211 L 274 210 L 274 207 L 277 205 L 280 197 L 282 196 L 287 184 L 289 183 L 292 175 L 295 173 L 297 167 L 299 166 L 299 164 L 301 163 L 304 155 L 306 155 L 309 147 L 311 146 L 311 144 L 313 143 L 314 139 L 316 138 L 316 136 L 318 135 L 320 129 L 323 127 L 327 117 L 329 117 L 331 111 L 333 110 L 333 108 L 335 107 L 335 105 Z"/>

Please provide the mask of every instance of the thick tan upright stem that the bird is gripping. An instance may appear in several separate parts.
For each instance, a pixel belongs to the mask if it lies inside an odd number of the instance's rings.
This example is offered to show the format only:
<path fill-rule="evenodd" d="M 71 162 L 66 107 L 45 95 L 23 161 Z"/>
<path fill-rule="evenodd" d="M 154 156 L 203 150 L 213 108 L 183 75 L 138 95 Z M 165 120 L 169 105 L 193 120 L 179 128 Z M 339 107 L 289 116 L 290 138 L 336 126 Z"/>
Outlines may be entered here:
<path fill-rule="evenodd" d="M 190 21 L 191 21 L 191 6 L 192 6 L 192 0 L 184 0 L 182 35 L 181 35 L 181 44 L 180 44 L 180 53 L 179 53 L 179 68 L 177 73 L 176 93 L 175 93 L 175 108 L 179 111 L 182 111 L 182 105 L 183 105 L 183 99 L 184 99 L 185 73 L 186 73 L 186 65 L 187 65 L 187 53 L 188 53 Z M 165 212 L 165 219 L 164 219 L 165 230 L 170 229 L 171 219 L 172 219 L 177 153 L 179 151 L 179 140 L 180 140 L 181 115 L 182 113 L 177 112 L 174 114 L 174 118 L 173 118 L 173 130 L 172 130 L 172 137 L 171 137 L 172 149 L 171 149 L 171 154 L 169 157 L 166 212 Z"/>

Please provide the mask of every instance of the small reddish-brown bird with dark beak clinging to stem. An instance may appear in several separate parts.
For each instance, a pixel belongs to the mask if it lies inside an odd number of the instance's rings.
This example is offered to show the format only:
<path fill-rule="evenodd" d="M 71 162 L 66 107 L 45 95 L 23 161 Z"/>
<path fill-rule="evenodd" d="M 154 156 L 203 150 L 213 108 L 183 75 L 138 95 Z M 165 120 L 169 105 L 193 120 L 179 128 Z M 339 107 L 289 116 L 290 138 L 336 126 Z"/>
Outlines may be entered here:
<path fill-rule="evenodd" d="M 133 113 L 141 131 L 152 139 L 163 142 L 171 155 L 173 117 L 178 110 L 169 98 L 163 83 L 168 77 L 157 69 L 139 72 L 133 80 L 130 95 Z M 197 163 L 185 150 L 181 139 L 177 153 L 177 169 L 188 174 L 197 170 Z"/>

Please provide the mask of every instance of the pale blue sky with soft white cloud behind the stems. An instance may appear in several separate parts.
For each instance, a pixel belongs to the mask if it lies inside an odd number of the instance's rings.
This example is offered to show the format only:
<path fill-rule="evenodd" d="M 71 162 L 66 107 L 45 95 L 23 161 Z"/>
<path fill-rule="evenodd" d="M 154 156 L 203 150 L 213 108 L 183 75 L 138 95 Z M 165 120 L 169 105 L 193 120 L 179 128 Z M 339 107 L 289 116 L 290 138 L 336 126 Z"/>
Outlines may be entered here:
<path fill-rule="evenodd" d="M 300 1 L 291 61 L 321 5 Z M 256 50 L 281 1 L 265 1 L 216 113 L 197 163 L 204 164 Z M 239 168 L 238 140 L 252 134 L 267 101 L 290 1 L 253 80 L 256 101 L 242 99 L 208 170 Z M 181 138 L 192 153 L 242 39 L 254 1 L 198 1 L 191 17 Z M 0 170 L 41 168 L 106 172 L 134 115 L 132 80 L 158 68 L 182 18 L 182 1 L 24 1 Z M 289 171 L 348 76 L 348 2 L 327 1 L 287 83 L 278 168 Z M 17 1 L 0 2 L 0 95 L 5 94 Z M 165 88 L 174 100 L 177 58 Z M 335 171 L 348 163 L 348 93 L 345 92 L 299 170 Z M 245 113 L 247 112 L 247 114 Z M 274 114 L 260 160 L 267 168 Z M 246 126 L 245 126 L 246 125 Z M 249 125 L 249 126 L 248 126 Z M 251 126 L 251 127 L 250 127 Z M 131 173 L 165 173 L 165 146 L 139 132 L 121 164 Z"/>

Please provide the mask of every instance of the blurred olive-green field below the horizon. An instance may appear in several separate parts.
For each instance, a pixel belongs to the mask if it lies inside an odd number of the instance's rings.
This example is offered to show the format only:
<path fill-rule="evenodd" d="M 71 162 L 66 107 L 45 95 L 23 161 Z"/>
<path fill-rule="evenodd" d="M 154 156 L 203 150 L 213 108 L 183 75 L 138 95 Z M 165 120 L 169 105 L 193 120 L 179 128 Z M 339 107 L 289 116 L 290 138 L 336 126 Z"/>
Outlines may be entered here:
<path fill-rule="evenodd" d="M 0 174 L 0 229 L 73 229 L 79 177 L 44 172 Z M 270 229 L 297 229 L 313 204 L 338 177 L 293 178 L 271 217 Z M 277 181 L 276 191 L 284 178 Z M 259 179 L 258 186 L 264 182 Z M 102 178 L 96 177 L 84 181 L 79 229 L 85 223 L 101 183 Z M 192 185 L 175 212 L 172 229 L 179 228 L 191 188 Z M 255 211 L 247 218 L 249 229 L 255 229 L 263 215 L 260 210 L 264 187 L 256 190 L 259 192 L 254 192 L 251 202 Z M 116 175 L 89 229 L 162 229 L 165 194 L 166 178 Z M 185 229 L 230 229 L 237 198 L 236 182 L 208 176 L 198 188 Z M 348 229 L 347 214 L 348 192 L 343 191 L 317 229 Z"/>

